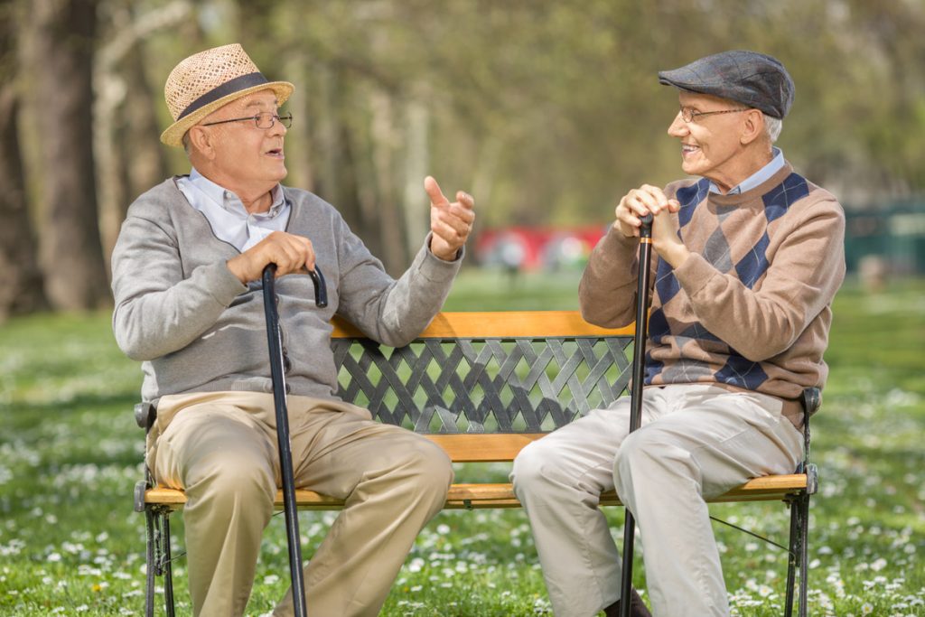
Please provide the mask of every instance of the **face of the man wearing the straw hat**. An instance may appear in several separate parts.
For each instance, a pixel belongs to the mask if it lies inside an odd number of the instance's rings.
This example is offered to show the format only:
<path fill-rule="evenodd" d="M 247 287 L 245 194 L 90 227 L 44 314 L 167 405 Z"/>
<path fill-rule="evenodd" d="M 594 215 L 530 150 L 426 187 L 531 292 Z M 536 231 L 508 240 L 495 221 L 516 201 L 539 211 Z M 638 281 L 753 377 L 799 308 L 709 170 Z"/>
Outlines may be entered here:
<path fill-rule="evenodd" d="M 262 112 L 277 114 L 277 95 L 272 90 L 248 94 L 221 107 L 205 123 L 237 117 L 251 118 Z M 229 188 L 234 185 L 267 184 L 272 187 L 286 178 L 283 140 L 286 127 L 275 121 L 269 129 L 257 128 L 253 119 L 206 127 L 211 133 L 213 166 Z"/>

